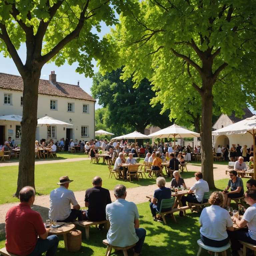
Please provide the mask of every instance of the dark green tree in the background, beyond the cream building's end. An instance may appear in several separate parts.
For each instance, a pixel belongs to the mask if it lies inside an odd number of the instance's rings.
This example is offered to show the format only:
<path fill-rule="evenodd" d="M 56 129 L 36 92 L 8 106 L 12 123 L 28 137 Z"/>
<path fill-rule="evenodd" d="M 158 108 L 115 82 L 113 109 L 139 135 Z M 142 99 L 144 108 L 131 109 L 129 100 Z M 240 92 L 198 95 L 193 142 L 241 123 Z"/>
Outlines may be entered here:
<path fill-rule="evenodd" d="M 117 69 L 102 76 L 97 73 L 93 77 L 91 92 L 93 97 L 99 99 L 99 104 L 108 108 L 106 124 L 116 126 L 116 132 L 120 133 L 123 126 L 134 127 L 144 134 L 147 125 L 159 127 L 169 126 L 171 123 L 168 112 L 161 112 L 162 105 L 151 107 L 150 100 L 154 97 L 150 82 L 143 79 L 137 88 L 133 88 L 132 79 L 123 82 L 120 79 L 122 69 Z M 115 132 L 115 131 L 113 131 Z M 116 134 L 116 133 L 115 133 Z M 122 134 L 120 134 L 122 135 Z"/>

